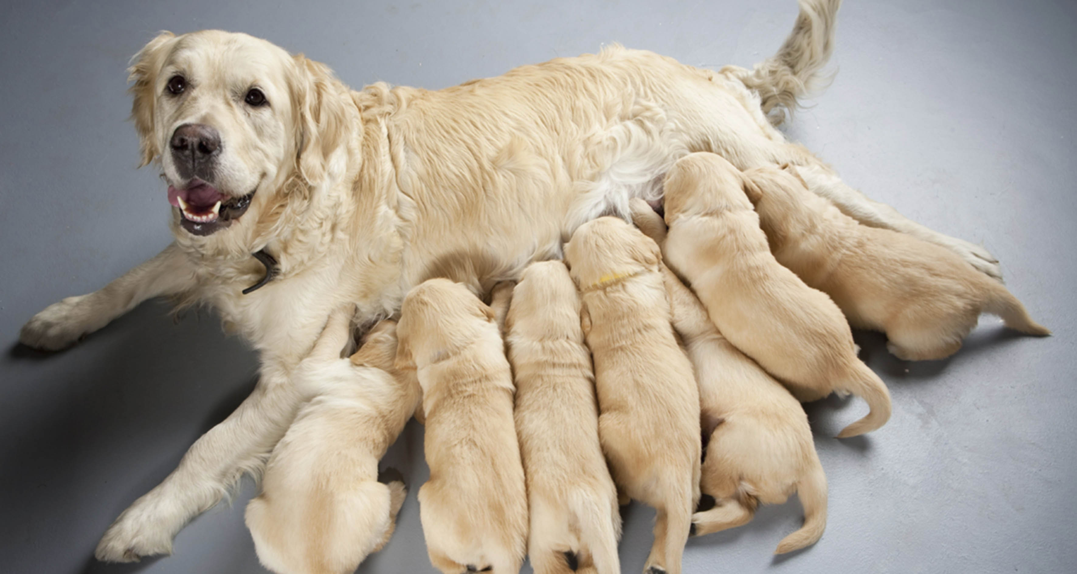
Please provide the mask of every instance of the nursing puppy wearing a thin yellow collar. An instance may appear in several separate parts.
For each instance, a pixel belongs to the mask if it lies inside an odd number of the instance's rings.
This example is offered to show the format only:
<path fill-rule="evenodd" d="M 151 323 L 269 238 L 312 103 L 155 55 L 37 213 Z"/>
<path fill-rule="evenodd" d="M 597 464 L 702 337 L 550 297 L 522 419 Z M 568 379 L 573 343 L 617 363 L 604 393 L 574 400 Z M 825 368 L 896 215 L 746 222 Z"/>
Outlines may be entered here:
<path fill-rule="evenodd" d="M 658 246 L 616 218 L 576 230 L 564 248 L 595 360 L 599 440 L 614 480 L 653 506 L 646 574 L 679 574 L 699 501 L 699 390 L 673 333 Z"/>

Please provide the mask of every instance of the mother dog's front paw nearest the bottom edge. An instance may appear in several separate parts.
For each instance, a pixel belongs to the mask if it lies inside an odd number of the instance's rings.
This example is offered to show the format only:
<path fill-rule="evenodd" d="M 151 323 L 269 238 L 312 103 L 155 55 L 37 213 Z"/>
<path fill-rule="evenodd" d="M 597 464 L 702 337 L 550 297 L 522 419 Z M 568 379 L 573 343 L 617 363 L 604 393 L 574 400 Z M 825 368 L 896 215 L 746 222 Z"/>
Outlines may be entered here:
<path fill-rule="evenodd" d="M 109 527 L 94 552 L 98 560 L 138 562 L 144 556 L 172 554 L 172 537 L 178 529 L 144 499 L 124 510 Z"/>

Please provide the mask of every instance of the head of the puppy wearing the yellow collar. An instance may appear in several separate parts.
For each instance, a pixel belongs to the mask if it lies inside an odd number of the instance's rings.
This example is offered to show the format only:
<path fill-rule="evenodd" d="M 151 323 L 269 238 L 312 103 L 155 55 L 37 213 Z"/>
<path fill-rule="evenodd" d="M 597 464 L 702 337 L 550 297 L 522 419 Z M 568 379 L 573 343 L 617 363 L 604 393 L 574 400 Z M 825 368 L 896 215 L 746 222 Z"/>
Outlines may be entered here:
<path fill-rule="evenodd" d="M 599 218 L 579 226 L 564 246 L 564 260 L 582 291 L 613 284 L 644 271 L 657 271 L 658 244 L 617 218 Z"/>

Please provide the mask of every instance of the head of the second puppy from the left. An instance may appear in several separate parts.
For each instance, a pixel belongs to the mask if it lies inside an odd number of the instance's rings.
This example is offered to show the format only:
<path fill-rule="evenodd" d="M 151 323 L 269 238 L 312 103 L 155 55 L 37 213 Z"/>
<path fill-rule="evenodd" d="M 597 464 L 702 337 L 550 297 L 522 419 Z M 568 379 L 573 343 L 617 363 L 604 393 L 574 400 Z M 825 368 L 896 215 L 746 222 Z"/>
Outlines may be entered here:
<path fill-rule="evenodd" d="M 396 324 L 396 366 L 436 363 L 474 341 L 484 328 L 496 330 L 493 309 L 462 283 L 423 281 L 408 292 Z"/>

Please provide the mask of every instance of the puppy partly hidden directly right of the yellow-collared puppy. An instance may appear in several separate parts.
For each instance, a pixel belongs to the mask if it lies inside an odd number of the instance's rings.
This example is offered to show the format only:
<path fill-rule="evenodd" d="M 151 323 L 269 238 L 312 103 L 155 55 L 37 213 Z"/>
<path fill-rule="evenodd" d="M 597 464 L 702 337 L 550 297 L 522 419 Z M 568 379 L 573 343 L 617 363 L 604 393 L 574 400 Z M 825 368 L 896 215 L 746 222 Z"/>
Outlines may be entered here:
<path fill-rule="evenodd" d="M 666 225 L 645 201 L 633 201 L 632 220 L 662 242 Z M 718 333 L 699 299 L 665 266 L 662 277 L 673 327 L 696 368 L 707 443 L 701 490 L 714 499 L 704 502 L 713 503 L 712 508 L 693 516 L 695 533 L 747 523 L 759 502 L 782 504 L 797 492 L 805 524 L 786 536 L 775 554 L 814 544 L 826 528 L 826 474 L 808 417 L 781 383 Z"/>

